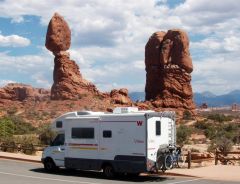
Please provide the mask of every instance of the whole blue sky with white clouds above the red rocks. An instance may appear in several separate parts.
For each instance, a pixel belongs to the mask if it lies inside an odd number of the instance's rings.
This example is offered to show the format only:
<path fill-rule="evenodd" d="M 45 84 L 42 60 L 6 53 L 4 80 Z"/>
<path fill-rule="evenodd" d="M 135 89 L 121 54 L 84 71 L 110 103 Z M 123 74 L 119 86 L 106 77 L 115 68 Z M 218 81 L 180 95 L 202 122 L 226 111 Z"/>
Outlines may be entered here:
<path fill-rule="evenodd" d="M 240 3 L 237 0 L 0 1 L 0 86 L 50 88 L 53 55 L 45 48 L 54 12 L 72 30 L 71 58 L 102 91 L 144 91 L 144 47 L 156 31 L 190 37 L 195 92 L 240 89 Z"/>

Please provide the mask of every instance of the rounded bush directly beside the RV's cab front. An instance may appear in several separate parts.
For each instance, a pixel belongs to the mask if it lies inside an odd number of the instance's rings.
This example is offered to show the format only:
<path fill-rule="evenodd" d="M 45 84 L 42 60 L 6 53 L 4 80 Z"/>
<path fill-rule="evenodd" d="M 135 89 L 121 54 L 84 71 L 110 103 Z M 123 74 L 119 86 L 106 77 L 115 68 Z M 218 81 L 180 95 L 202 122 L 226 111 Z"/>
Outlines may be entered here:
<path fill-rule="evenodd" d="M 50 124 L 40 127 L 37 133 L 39 135 L 40 143 L 44 145 L 49 145 L 56 136 L 56 133 L 52 131 Z"/>

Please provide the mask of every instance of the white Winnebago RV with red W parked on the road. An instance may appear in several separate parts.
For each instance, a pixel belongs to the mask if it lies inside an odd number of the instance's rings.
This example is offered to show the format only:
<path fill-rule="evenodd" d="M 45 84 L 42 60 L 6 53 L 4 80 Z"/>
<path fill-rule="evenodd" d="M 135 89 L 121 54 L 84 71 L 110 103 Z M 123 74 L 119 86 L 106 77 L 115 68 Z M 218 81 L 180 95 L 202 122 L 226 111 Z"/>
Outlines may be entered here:
<path fill-rule="evenodd" d="M 58 167 L 103 170 L 111 177 L 172 166 L 174 112 L 139 111 L 136 107 L 117 107 L 113 113 L 69 112 L 52 127 L 57 136 L 42 155 L 47 171 Z"/>

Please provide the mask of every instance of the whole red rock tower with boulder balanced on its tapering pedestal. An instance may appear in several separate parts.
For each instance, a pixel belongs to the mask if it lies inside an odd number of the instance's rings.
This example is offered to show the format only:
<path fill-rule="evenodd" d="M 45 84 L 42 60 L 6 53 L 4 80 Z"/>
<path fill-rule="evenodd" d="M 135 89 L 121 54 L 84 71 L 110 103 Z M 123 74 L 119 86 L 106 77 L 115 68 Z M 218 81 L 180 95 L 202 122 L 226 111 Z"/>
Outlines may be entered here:
<path fill-rule="evenodd" d="M 49 22 L 45 46 L 54 59 L 52 100 L 79 99 L 86 93 L 100 94 L 96 86 L 83 79 L 78 65 L 70 60 L 71 31 L 62 16 L 55 13 Z"/>

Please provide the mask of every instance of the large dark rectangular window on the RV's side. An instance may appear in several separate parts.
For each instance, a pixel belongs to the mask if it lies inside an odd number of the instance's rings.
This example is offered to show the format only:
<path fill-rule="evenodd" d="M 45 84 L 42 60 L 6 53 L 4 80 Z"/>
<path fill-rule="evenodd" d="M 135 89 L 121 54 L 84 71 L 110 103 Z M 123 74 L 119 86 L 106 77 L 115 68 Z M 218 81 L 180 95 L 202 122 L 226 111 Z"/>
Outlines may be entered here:
<path fill-rule="evenodd" d="M 94 128 L 72 128 L 73 139 L 93 139 Z"/>

